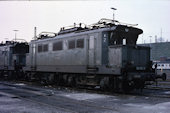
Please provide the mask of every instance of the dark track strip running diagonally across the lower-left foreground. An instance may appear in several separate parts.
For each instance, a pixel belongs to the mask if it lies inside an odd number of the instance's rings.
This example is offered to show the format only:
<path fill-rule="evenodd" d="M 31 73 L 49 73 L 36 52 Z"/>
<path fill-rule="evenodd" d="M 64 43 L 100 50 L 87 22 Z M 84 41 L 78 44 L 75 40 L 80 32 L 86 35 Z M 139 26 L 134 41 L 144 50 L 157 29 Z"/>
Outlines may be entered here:
<path fill-rule="evenodd" d="M 0 82 L 1 85 L 8 86 L 10 90 L 4 90 L 6 93 L 12 93 L 15 95 L 13 98 L 20 98 L 27 101 L 31 101 L 34 103 L 42 104 L 49 107 L 54 107 L 56 109 L 69 112 L 69 113 L 79 113 L 85 112 L 86 110 L 94 112 L 93 110 L 100 110 L 100 111 L 117 111 L 114 108 L 110 108 L 107 106 L 101 106 L 96 102 L 89 101 L 89 100 L 73 100 L 69 98 L 64 98 L 60 94 L 55 92 L 52 94 L 49 90 L 39 90 L 38 88 L 30 88 L 28 86 L 20 86 L 9 84 L 5 82 Z M 56 96 L 56 95 L 57 96 Z"/>

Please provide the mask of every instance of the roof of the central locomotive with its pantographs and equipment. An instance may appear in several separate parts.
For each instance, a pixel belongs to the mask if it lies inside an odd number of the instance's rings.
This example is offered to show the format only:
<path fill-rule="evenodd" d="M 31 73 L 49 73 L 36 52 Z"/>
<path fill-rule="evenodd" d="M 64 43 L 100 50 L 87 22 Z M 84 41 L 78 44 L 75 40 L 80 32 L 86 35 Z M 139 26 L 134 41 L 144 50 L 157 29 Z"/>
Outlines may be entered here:
<path fill-rule="evenodd" d="M 68 27 L 62 27 L 61 30 L 58 33 L 51 32 L 42 32 L 42 34 L 39 35 L 39 37 L 32 41 L 37 40 L 49 40 L 49 38 L 65 38 L 69 36 L 78 36 L 83 34 L 89 34 L 89 33 L 95 33 L 95 32 L 102 32 L 102 31 L 125 31 L 126 28 L 130 31 L 135 31 L 137 34 L 143 33 L 141 29 L 138 29 L 134 26 L 137 24 L 126 24 L 126 23 L 120 23 L 116 20 L 110 20 L 110 19 L 101 19 L 99 22 L 91 24 L 91 25 L 85 25 L 82 27 L 82 23 L 78 25 L 74 24 L 74 26 L 68 26 Z"/>

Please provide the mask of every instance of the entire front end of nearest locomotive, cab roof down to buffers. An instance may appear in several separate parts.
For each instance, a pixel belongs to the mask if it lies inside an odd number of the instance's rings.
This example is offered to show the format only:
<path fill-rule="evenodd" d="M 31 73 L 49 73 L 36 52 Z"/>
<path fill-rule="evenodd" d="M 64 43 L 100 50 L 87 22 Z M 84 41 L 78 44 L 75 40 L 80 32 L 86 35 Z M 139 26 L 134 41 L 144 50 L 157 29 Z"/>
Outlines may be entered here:
<path fill-rule="evenodd" d="M 120 70 L 113 73 L 120 76 L 124 90 L 129 90 L 131 86 L 143 88 L 146 81 L 155 80 L 150 48 L 136 45 L 141 33 L 141 29 L 118 25 L 115 30 L 103 35 L 108 39 L 108 67 Z"/>

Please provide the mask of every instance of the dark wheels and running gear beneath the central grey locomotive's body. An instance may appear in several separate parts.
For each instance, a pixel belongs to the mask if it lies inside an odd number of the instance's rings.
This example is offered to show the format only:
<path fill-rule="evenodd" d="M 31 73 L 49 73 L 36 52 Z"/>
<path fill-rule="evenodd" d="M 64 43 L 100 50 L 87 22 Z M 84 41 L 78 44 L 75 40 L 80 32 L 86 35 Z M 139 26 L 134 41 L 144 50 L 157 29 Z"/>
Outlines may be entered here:
<path fill-rule="evenodd" d="M 73 73 L 43 73 L 27 72 L 27 81 L 39 81 L 42 84 L 59 86 L 91 87 L 107 91 L 120 91 L 122 80 L 119 75 L 73 74 Z"/>

